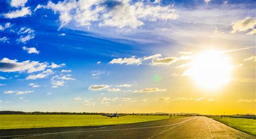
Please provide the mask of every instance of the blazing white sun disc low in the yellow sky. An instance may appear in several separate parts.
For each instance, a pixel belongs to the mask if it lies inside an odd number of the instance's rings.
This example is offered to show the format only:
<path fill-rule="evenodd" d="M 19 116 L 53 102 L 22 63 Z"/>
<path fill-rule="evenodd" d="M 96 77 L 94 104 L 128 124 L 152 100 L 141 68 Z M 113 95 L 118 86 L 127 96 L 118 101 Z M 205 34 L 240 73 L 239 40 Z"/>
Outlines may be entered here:
<path fill-rule="evenodd" d="M 198 54 L 192 61 L 190 76 L 199 87 L 217 89 L 230 81 L 230 57 L 217 51 L 206 51 Z"/>

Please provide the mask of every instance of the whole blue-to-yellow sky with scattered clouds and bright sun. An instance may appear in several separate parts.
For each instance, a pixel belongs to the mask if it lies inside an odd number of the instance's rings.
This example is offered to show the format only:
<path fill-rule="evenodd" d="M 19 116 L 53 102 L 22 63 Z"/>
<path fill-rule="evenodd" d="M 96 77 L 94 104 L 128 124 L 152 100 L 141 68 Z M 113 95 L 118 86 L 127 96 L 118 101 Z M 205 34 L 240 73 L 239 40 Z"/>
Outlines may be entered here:
<path fill-rule="evenodd" d="M 256 113 L 255 1 L 0 1 L 0 110 Z"/>

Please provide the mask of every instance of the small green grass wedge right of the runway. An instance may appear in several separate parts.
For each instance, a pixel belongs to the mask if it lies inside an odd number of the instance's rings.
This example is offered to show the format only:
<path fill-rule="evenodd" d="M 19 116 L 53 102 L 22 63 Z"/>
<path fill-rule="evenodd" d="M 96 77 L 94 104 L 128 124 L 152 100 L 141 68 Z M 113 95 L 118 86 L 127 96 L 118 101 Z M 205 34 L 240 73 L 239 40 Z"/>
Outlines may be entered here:
<path fill-rule="evenodd" d="M 244 131 L 245 133 L 256 136 L 256 120 L 232 117 L 221 118 L 220 116 L 209 116 L 209 118 L 224 123 L 227 126 L 233 127 L 240 131 Z"/>

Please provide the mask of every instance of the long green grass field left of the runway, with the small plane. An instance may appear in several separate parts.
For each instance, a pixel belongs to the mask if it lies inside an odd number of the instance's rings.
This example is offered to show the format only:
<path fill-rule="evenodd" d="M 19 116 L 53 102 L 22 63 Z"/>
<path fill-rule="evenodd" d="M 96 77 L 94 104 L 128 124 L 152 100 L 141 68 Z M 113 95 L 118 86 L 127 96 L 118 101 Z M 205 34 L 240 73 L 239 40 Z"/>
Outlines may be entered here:
<path fill-rule="evenodd" d="M 182 116 L 172 116 L 177 118 Z M 79 127 L 125 124 L 170 119 L 169 116 L 127 115 L 109 117 L 101 115 L 0 115 L 0 129 Z"/>

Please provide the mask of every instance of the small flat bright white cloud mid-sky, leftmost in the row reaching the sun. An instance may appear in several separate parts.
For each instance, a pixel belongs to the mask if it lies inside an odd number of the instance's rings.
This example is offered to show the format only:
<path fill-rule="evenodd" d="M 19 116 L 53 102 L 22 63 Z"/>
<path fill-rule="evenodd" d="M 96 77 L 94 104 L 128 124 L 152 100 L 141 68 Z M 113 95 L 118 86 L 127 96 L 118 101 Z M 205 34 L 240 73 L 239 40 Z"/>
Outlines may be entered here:
<path fill-rule="evenodd" d="M 142 64 L 142 58 L 135 58 L 135 56 L 131 58 L 115 58 L 109 62 L 109 64 L 126 64 L 126 65 L 140 65 Z"/>

